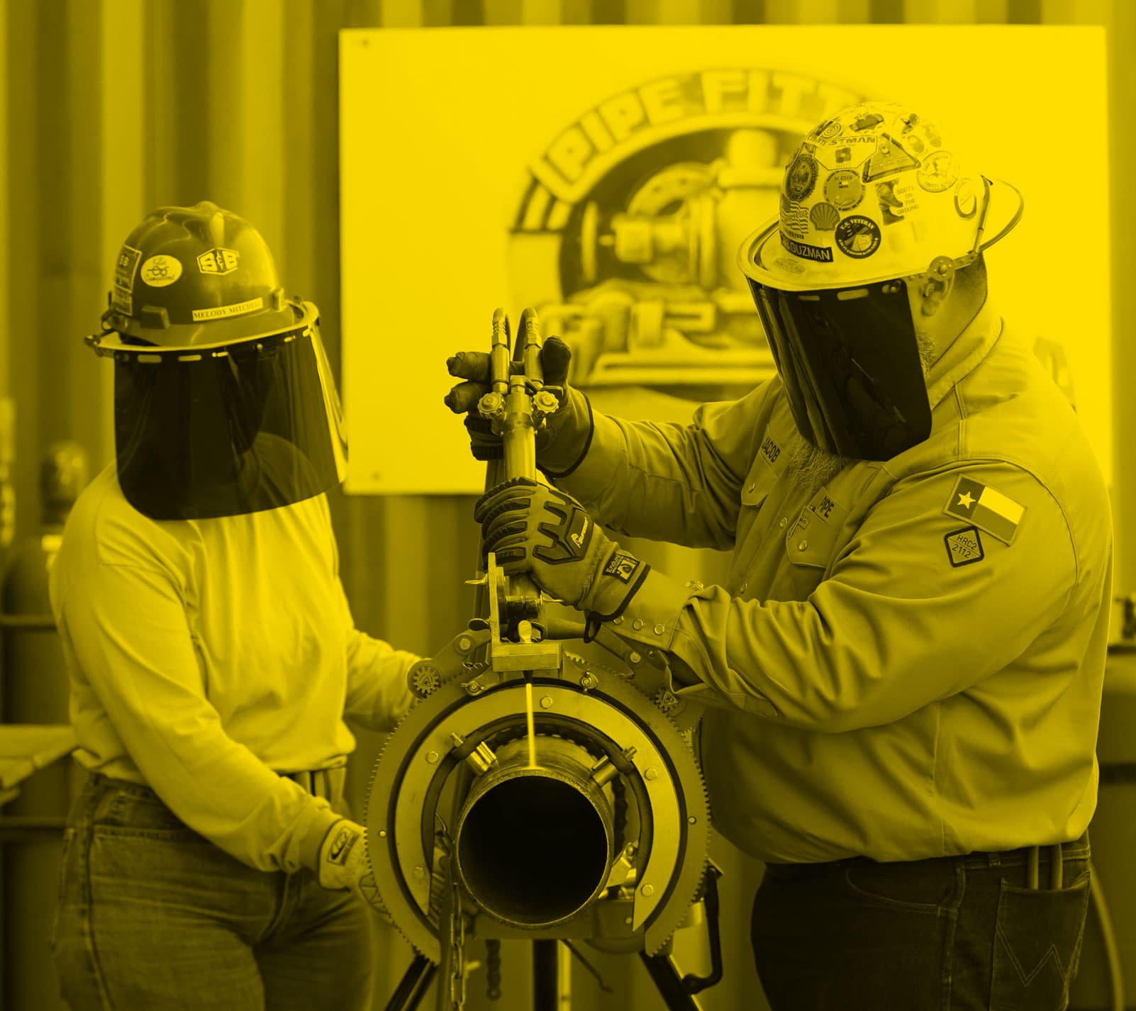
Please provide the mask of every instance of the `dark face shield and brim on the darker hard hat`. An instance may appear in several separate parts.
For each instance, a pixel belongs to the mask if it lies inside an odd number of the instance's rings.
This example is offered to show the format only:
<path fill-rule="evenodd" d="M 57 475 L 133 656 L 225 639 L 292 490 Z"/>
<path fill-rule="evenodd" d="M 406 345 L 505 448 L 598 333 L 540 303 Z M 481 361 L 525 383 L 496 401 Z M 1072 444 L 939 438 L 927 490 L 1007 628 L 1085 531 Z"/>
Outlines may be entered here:
<path fill-rule="evenodd" d="M 151 519 L 276 509 L 340 484 L 343 413 L 315 306 L 292 329 L 192 348 L 89 337 L 115 361 L 115 445 L 127 501 Z"/>

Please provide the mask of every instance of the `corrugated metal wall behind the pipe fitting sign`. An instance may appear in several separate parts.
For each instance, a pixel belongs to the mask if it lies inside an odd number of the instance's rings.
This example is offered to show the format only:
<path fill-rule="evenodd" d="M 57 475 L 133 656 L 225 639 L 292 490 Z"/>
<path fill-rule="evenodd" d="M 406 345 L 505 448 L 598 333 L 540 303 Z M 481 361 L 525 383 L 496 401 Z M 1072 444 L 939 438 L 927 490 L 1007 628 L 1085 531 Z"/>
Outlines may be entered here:
<path fill-rule="evenodd" d="M 0 186 L 0 303 L 8 314 L 3 388 L 16 395 L 19 411 L 22 530 L 34 521 L 42 446 L 72 436 L 85 441 L 97 462 L 109 459 L 110 370 L 100 369 L 78 341 L 97 325 L 118 245 L 149 208 L 209 198 L 254 222 L 287 286 L 319 302 L 337 361 L 342 27 L 1105 23 L 1116 57 L 1111 161 L 1121 166 L 1136 161 L 1122 123 L 1136 105 L 1128 59 L 1136 45 L 1134 10 L 1127 0 L 12 0 L 0 10 L 8 57 L 0 83 L 0 156 L 8 166 Z M 960 73 L 969 72 L 960 62 Z M 1112 192 L 1114 219 L 1136 218 L 1130 187 L 1114 184 Z M 1116 276 L 1134 265 L 1130 229 L 1118 227 Z M 1129 287 L 1117 285 L 1118 334 L 1131 316 Z M 379 325 L 381 306 L 375 314 Z M 1119 341 L 1116 354 L 1122 448 L 1136 441 L 1136 404 L 1121 378 L 1136 373 L 1136 350 Z M 376 385 L 386 378 L 376 376 Z M 1121 533 L 1136 518 L 1136 470 L 1126 462 L 1117 468 Z M 461 627 L 471 600 L 462 580 L 477 549 L 473 498 L 336 495 L 333 508 L 361 627 L 421 651 Z M 1126 580 L 1136 577 L 1130 540 Z M 704 563 L 713 570 L 720 562 Z M 362 774 L 376 743 L 361 740 L 356 764 Z M 359 771 L 357 795 L 365 785 Z M 749 961 L 740 910 L 726 925 L 732 972 Z M 627 985 L 620 981 L 625 999 Z M 645 991 L 638 996 L 635 1006 L 653 1006 Z M 727 980 L 705 1005 L 737 1006 L 735 997 Z"/>

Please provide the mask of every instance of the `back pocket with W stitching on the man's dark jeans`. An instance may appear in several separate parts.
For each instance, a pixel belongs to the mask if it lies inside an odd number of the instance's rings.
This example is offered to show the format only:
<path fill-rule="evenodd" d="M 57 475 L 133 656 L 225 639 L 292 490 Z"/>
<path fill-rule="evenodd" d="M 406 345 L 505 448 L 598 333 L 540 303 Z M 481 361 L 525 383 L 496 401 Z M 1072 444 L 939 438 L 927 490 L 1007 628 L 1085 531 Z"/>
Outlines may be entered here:
<path fill-rule="evenodd" d="M 1088 909 L 1086 869 L 1066 888 L 1002 882 L 994 927 L 991 1011 L 1063 1011 Z"/>

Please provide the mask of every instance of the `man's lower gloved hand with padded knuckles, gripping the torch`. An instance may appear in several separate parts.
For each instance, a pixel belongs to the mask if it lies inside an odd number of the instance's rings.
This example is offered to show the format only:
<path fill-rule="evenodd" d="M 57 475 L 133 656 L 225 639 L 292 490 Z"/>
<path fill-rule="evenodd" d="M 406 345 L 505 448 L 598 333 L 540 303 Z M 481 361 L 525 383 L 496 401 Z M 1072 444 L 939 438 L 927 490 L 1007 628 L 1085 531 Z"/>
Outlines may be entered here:
<path fill-rule="evenodd" d="M 529 573 L 550 595 L 608 621 L 635 595 L 650 566 L 619 550 L 584 507 L 559 488 L 515 477 L 477 500 L 482 552 L 512 575 Z"/>

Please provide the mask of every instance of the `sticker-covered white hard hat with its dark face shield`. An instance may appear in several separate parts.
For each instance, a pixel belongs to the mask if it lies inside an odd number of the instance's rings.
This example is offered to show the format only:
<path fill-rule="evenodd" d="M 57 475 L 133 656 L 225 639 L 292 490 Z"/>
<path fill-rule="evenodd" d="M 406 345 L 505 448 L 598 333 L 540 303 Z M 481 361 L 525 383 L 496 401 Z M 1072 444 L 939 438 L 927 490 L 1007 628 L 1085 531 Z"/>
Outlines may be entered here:
<path fill-rule="evenodd" d="M 887 460 L 930 434 L 909 290 L 945 291 L 1021 211 L 1013 186 L 969 169 L 902 106 L 852 106 L 802 140 L 778 217 L 738 266 L 805 440 Z"/>

